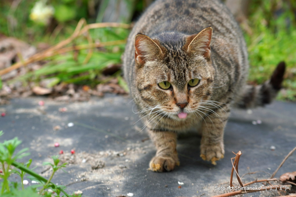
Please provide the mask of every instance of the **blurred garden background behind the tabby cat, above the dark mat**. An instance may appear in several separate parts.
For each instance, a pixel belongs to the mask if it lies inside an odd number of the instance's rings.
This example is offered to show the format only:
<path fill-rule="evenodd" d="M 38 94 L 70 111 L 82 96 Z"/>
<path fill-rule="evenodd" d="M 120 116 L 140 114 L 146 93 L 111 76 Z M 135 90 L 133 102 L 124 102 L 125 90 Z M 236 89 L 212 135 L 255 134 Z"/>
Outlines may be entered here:
<path fill-rule="evenodd" d="M 1 0 L 0 105 L 30 95 L 84 101 L 105 92 L 126 94 L 121 71 L 125 40 L 152 2 Z M 295 101 L 296 1 L 224 2 L 247 42 L 248 82 L 262 83 L 285 61 L 284 88 L 277 99 Z"/>

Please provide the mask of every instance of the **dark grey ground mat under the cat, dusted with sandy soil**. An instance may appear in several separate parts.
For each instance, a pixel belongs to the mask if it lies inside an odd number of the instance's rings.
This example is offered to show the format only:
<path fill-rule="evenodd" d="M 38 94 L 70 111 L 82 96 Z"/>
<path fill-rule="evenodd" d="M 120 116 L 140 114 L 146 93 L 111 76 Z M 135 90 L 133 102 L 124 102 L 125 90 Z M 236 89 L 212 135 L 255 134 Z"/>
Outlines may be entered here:
<path fill-rule="evenodd" d="M 44 106 L 38 101 L 43 100 Z M 81 190 L 83 197 L 119 196 L 133 193 L 139 196 L 211 196 L 229 191 L 215 186 L 229 186 L 231 157 L 242 151 L 239 174 L 243 181 L 269 178 L 284 157 L 296 146 L 296 104 L 274 102 L 266 108 L 234 109 L 224 135 L 225 156 L 214 166 L 200 158 L 200 136 L 189 134 L 178 139 L 180 166 L 172 172 L 156 173 L 148 169 L 155 154 L 151 140 L 129 97 L 107 96 L 89 102 L 60 103 L 44 97 L 14 99 L 0 106 L 6 116 L 0 117 L 0 141 L 17 136 L 21 148 L 29 147 L 35 171 L 51 174 L 45 161 L 52 155 L 70 163 L 54 176 L 53 182 L 67 186 L 67 192 Z M 65 109 L 62 108 L 67 108 Z M 62 112 L 62 111 L 65 112 Z M 261 124 L 256 123 L 260 123 Z M 137 122 L 137 123 L 136 123 Z M 70 123 L 70 124 L 69 124 Z M 73 126 L 71 125 L 73 123 Z M 256 124 L 255 124 L 256 123 Z M 59 147 L 54 147 L 58 142 Z M 271 150 L 271 146 L 275 149 Z M 75 154 L 71 154 L 75 149 Z M 292 155 L 275 177 L 296 170 Z M 93 169 L 94 168 L 94 169 Z M 97 169 L 96 169 L 97 168 Z M 14 178 L 14 176 L 13 176 Z M 180 185 L 180 183 L 184 183 Z M 237 179 L 234 176 L 234 183 Z M 29 181 L 29 184 L 31 181 Z M 263 186 L 262 183 L 257 183 Z M 181 186 L 181 188 L 180 188 Z M 249 196 L 279 196 L 276 191 L 264 191 Z M 245 195 L 244 195 L 245 196 Z"/>

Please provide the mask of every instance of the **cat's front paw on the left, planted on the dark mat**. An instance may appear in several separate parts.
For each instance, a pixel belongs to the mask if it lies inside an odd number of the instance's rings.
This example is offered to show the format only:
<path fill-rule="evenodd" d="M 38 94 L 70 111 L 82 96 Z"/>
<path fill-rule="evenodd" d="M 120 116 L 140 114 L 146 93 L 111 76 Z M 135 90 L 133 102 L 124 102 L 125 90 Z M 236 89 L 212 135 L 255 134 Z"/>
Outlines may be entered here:
<path fill-rule="evenodd" d="M 172 171 L 180 162 L 178 157 L 155 156 L 150 161 L 150 169 L 155 172 Z"/>

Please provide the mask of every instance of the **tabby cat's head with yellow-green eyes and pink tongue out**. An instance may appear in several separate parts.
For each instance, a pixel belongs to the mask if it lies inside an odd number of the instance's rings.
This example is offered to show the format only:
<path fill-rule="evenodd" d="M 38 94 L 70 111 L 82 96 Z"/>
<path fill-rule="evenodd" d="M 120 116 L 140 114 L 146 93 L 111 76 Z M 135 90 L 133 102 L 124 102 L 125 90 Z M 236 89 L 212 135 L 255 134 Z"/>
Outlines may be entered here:
<path fill-rule="evenodd" d="M 213 88 L 212 32 L 208 27 L 194 35 L 136 35 L 134 85 L 142 108 L 148 113 L 154 108 L 176 120 L 195 116 L 200 102 L 210 97 Z"/>

